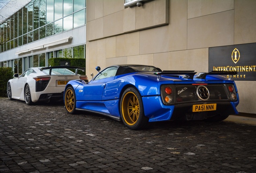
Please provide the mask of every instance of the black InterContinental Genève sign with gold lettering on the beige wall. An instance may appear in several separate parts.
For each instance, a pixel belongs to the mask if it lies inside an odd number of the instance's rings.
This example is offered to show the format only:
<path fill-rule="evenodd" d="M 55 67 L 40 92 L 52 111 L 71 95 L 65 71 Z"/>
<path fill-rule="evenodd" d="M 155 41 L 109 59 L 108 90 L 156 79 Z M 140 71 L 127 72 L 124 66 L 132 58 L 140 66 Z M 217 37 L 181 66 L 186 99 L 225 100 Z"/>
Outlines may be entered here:
<path fill-rule="evenodd" d="M 226 77 L 256 80 L 256 43 L 209 48 L 209 71 L 236 71 Z"/>

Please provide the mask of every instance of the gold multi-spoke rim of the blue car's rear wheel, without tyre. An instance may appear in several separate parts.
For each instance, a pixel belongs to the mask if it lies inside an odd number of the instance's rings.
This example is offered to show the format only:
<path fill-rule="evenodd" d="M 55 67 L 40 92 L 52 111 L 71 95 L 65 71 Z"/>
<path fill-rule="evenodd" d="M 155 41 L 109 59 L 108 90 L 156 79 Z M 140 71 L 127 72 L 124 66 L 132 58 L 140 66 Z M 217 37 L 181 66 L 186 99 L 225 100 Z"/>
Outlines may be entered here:
<path fill-rule="evenodd" d="M 140 105 L 138 98 L 132 92 L 124 95 L 122 102 L 122 115 L 128 125 L 134 125 L 138 121 Z"/>

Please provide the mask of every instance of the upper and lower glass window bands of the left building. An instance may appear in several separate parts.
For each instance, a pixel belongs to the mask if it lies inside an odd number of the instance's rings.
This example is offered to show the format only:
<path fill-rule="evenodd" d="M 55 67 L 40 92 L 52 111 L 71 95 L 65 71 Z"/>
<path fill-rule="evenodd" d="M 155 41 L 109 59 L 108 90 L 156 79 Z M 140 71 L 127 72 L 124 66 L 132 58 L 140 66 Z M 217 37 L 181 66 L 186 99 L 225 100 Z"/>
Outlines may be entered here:
<path fill-rule="evenodd" d="M 86 24 L 86 0 L 31 0 L 0 24 L 0 53 Z M 50 58 L 85 58 L 85 44 L 0 62 L 14 73 Z"/>

